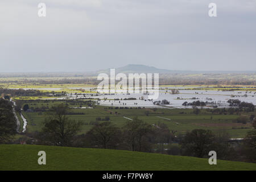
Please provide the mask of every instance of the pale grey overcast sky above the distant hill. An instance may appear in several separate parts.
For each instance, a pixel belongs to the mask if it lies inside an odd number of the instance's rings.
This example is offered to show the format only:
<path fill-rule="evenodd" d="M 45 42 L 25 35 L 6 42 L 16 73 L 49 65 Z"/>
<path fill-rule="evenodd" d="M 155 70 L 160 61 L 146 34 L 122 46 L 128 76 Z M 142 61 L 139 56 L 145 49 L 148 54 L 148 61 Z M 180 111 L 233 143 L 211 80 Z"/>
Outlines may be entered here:
<path fill-rule="evenodd" d="M 256 0 L 1 0 L 0 63 L 0 72 L 255 71 Z"/>

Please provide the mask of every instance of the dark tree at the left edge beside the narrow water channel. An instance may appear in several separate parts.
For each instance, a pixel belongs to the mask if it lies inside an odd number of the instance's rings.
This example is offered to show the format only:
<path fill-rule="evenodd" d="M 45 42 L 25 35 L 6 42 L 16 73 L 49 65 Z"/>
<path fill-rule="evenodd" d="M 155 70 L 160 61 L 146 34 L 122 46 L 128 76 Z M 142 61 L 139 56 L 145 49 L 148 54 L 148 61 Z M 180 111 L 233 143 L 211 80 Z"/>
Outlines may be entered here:
<path fill-rule="evenodd" d="M 16 134 L 16 120 L 10 101 L 0 98 L 0 143 L 9 142 Z"/>

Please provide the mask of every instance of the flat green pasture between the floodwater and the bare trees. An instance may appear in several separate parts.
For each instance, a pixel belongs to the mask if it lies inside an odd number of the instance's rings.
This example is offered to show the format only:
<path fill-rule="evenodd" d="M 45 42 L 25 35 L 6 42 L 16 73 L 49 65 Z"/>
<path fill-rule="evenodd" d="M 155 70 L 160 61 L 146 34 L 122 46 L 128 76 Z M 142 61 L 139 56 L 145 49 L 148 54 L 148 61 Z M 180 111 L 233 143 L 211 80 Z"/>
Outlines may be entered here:
<path fill-rule="evenodd" d="M 51 107 L 60 103 L 61 101 L 48 103 L 37 101 L 35 105 L 33 102 L 28 102 L 32 108 L 42 106 Z M 198 115 L 193 114 L 192 109 L 157 109 L 156 111 L 153 111 L 148 108 L 109 109 L 109 107 L 104 106 L 96 106 L 94 109 L 71 109 L 71 111 L 74 113 L 84 113 L 69 115 L 69 118 L 84 123 L 81 127 L 80 134 L 89 131 L 93 127 L 93 125 L 90 125 L 89 123 L 96 121 L 97 117 L 105 118 L 106 116 L 109 116 L 110 121 L 115 123 L 118 127 L 123 127 L 125 123 L 129 121 L 126 118 L 123 118 L 123 116 L 127 118 L 138 117 L 150 125 L 158 124 L 159 122 L 165 123 L 170 130 L 176 130 L 177 133 L 182 134 L 193 129 L 209 129 L 213 130 L 213 132 L 225 130 L 232 138 L 242 138 L 245 137 L 249 130 L 251 130 L 250 123 L 242 124 L 236 122 L 236 119 L 239 117 L 237 114 L 212 114 L 206 109 L 202 109 Z M 146 111 L 148 112 L 148 116 L 145 114 Z M 49 113 L 47 112 L 24 113 L 24 117 L 28 119 L 27 132 L 40 131 L 48 114 Z M 249 117 L 250 114 L 256 115 L 256 112 L 245 114 Z M 164 118 L 170 118 L 171 120 Z"/>

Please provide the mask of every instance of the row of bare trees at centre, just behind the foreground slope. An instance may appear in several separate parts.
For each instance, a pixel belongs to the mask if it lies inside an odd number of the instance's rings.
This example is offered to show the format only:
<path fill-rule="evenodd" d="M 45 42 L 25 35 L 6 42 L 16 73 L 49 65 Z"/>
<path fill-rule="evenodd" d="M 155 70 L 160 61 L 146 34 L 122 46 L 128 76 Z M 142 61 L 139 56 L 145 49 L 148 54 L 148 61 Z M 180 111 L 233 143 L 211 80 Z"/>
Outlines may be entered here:
<path fill-rule="evenodd" d="M 154 152 L 156 144 L 171 143 L 175 139 L 174 134 L 163 123 L 148 125 L 138 118 L 127 121 L 122 128 L 112 122 L 102 122 L 77 138 L 80 138 L 81 147 L 143 152 Z"/>

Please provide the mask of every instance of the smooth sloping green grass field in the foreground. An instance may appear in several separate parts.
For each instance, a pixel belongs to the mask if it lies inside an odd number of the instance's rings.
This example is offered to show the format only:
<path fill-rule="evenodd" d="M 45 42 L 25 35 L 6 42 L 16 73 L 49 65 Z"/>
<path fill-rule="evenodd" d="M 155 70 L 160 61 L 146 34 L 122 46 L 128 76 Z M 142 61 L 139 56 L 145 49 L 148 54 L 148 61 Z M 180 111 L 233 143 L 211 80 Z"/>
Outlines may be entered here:
<path fill-rule="evenodd" d="M 46 165 L 38 152 L 46 152 Z M 95 148 L 0 145 L 0 170 L 256 170 L 256 164 Z"/>

